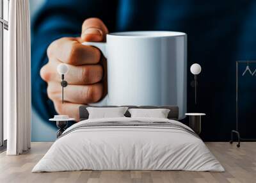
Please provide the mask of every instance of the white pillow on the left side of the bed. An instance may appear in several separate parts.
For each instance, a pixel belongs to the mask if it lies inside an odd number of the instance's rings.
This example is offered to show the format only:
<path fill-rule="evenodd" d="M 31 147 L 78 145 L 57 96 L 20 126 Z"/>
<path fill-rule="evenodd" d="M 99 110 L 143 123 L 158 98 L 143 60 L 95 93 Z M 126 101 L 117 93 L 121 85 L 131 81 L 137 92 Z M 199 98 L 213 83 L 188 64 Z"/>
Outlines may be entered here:
<path fill-rule="evenodd" d="M 120 118 L 125 117 L 124 113 L 128 107 L 86 107 L 89 119 L 95 118 Z"/>

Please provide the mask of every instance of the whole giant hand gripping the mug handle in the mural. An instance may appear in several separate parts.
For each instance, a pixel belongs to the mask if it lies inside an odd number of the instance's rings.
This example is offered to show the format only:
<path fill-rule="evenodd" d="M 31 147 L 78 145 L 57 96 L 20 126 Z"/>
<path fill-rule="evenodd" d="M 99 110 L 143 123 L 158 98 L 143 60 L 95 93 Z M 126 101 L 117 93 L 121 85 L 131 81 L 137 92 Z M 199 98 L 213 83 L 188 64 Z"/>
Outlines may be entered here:
<path fill-rule="evenodd" d="M 81 37 L 64 37 L 52 42 L 47 49 L 49 62 L 40 70 L 47 82 L 47 95 L 54 102 L 60 115 L 79 118 L 79 106 L 97 102 L 103 95 L 103 68 L 99 49 L 82 45 L 87 42 L 106 40 L 108 29 L 100 19 L 91 18 L 83 22 Z M 57 72 L 60 63 L 67 63 L 65 74 L 68 86 L 64 88 L 64 104 L 61 103 L 61 76 Z"/>

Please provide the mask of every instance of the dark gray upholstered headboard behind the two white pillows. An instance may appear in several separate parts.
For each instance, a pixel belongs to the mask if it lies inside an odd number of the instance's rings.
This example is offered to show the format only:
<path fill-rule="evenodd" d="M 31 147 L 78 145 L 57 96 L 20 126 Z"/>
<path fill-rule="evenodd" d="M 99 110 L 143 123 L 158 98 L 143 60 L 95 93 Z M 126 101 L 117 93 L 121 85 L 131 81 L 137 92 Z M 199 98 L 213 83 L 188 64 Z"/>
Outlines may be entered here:
<path fill-rule="evenodd" d="M 87 120 L 89 113 L 86 107 L 118 107 L 118 106 L 80 106 L 79 107 L 79 121 Z M 170 109 L 168 114 L 168 119 L 170 120 L 178 120 L 179 118 L 179 107 L 177 106 L 125 106 L 129 108 L 140 108 L 140 109 Z M 126 117 L 131 117 L 129 111 L 124 114 Z"/>

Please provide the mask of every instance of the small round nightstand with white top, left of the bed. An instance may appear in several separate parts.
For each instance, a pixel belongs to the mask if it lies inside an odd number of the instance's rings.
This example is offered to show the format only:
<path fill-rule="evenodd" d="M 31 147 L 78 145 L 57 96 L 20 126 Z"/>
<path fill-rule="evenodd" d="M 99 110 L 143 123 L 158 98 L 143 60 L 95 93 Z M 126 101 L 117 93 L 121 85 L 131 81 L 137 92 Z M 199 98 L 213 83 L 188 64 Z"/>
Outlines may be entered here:
<path fill-rule="evenodd" d="M 68 118 L 67 115 L 55 115 L 54 118 L 49 119 L 51 122 L 56 122 L 56 126 L 59 128 L 57 138 L 66 130 L 68 122 L 74 120 L 74 118 Z"/>

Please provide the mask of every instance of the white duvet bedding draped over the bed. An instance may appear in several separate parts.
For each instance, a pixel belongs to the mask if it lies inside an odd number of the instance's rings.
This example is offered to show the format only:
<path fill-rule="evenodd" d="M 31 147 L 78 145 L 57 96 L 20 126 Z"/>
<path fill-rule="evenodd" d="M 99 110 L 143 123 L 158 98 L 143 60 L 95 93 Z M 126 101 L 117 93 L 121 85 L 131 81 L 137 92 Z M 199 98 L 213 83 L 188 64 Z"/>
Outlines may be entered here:
<path fill-rule="evenodd" d="M 180 129 L 150 126 L 78 128 L 92 122 L 170 122 L 163 118 L 102 118 L 69 127 L 32 172 L 72 170 L 225 171 L 204 142 Z M 75 130 L 74 130 L 75 129 Z M 189 129 L 191 131 L 191 129 Z"/>

